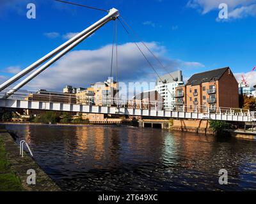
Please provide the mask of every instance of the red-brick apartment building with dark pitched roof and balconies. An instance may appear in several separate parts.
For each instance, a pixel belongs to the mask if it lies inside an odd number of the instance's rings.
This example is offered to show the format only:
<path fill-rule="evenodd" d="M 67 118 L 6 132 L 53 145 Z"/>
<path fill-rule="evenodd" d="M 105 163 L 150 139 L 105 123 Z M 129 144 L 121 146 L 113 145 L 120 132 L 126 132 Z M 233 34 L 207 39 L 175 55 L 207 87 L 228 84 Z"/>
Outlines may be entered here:
<path fill-rule="evenodd" d="M 186 85 L 176 88 L 175 98 L 178 108 L 186 105 L 188 112 L 239 108 L 238 83 L 228 67 L 193 75 Z"/>

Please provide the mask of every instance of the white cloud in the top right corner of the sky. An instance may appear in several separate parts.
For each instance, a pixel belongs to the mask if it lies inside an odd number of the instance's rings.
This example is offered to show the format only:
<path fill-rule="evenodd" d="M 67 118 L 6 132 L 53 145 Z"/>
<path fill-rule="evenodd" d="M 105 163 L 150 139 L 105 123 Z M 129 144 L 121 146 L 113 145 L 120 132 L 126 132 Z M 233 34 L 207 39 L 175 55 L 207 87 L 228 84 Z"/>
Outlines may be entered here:
<path fill-rule="evenodd" d="M 199 10 L 204 15 L 212 10 L 218 10 L 221 3 L 228 5 L 230 19 L 256 16 L 256 0 L 189 0 L 187 6 Z"/>

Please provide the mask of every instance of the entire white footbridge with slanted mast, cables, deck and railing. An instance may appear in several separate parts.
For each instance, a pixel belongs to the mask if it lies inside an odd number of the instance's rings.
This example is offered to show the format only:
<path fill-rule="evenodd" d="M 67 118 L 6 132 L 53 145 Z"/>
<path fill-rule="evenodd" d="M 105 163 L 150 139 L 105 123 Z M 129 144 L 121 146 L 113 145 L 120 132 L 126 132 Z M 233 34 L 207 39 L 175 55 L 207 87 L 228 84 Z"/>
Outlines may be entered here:
<path fill-rule="evenodd" d="M 107 11 L 107 10 L 106 10 Z M 205 119 L 205 120 L 228 120 L 228 121 L 239 121 L 239 122 L 252 122 L 255 120 L 255 113 L 249 110 L 243 110 L 239 108 L 216 108 L 215 110 L 209 110 L 207 107 L 196 106 L 196 108 L 191 109 L 186 105 L 173 105 L 172 109 L 164 109 L 163 102 L 159 101 L 134 101 L 129 99 L 119 99 L 119 98 L 108 98 L 108 103 L 104 103 L 106 99 L 98 101 L 99 105 L 95 103 L 90 103 L 90 101 L 77 101 L 76 98 L 71 96 L 61 96 L 64 102 L 58 102 L 52 100 L 52 98 L 60 98 L 54 93 L 49 94 L 47 99 L 31 99 L 29 94 L 33 92 L 22 92 L 20 89 L 24 85 L 28 84 L 33 78 L 40 75 L 45 69 L 49 68 L 54 62 L 58 61 L 65 54 L 70 52 L 73 48 L 79 45 L 86 38 L 90 37 L 95 31 L 100 29 L 108 22 L 118 20 L 122 26 L 125 28 L 128 34 L 129 31 L 125 27 L 130 27 L 127 22 L 120 20 L 120 13 L 115 8 L 107 11 L 108 14 L 95 22 L 95 24 L 90 25 L 88 28 L 84 29 L 81 33 L 77 34 L 67 42 L 60 45 L 60 47 L 52 50 L 49 54 L 45 55 L 38 61 L 34 62 L 28 68 L 23 69 L 20 73 L 13 76 L 6 82 L 0 85 L 0 107 L 1 108 L 15 108 L 15 109 L 27 109 L 27 110 L 52 110 L 61 112 L 79 112 L 79 113 L 100 113 L 100 114 L 113 114 L 113 115 L 130 115 L 130 116 L 141 116 L 141 117 L 158 117 L 158 118 L 173 118 L 173 119 Z M 123 18 L 122 18 L 123 19 Z M 116 24 L 115 29 L 116 29 Z M 131 28 L 131 27 L 130 27 Z M 117 29 L 116 29 L 117 30 Z M 133 30 L 132 30 L 133 31 Z M 133 31 L 134 32 L 134 31 Z M 113 38 L 114 39 L 114 38 Z M 114 41 L 114 40 L 113 40 Z M 117 43 L 117 42 L 116 42 Z M 154 69 L 153 64 L 148 61 L 147 56 L 143 53 L 141 48 L 136 43 L 136 47 L 140 50 L 143 57 L 145 57 L 149 66 L 154 70 L 156 75 L 159 75 Z M 113 43 L 114 45 L 114 43 Z M 154 55 L 153 52 L 143 43 L 150 54 Z M 111 73 L 113 66 L 113 48 L 112 48 L 112 61 L 111 61 Z M 117 48 L 116 48 L 117 52 Z M 117 53 L 116 53 L 117 56 Z M 154 57 L 157 59 L 156 55 Z M 157 59 L 157 62 L 161 62 Z M 40 68 L 38 68 L 41 66 Z M 163 66 L 163 64 L 161 64 Z M 116 66 L 117 67 L 117 66 Z M 38 68 L 38 69 L 36 69 Z M 164 66 L 163 66 L 164 68 Z M 36 70 L 35 70 L 36 69 Z M 21 82 L 18 82 L 22 77 L 25 77 L 31 73 L 28 77 L 24 78 Z M 160 78 L 160 77 L 159 77 Z M 161 79 L 161 78 L 160 78 Z M 17 84 L 18 83 L 18 84 Z M 12 89 L 8 89 L 10 85 L 15 85 Z M 34 93 L 35 94 L 35 93 Z M 104 101 L 103 101 L 104 100 Z"/>

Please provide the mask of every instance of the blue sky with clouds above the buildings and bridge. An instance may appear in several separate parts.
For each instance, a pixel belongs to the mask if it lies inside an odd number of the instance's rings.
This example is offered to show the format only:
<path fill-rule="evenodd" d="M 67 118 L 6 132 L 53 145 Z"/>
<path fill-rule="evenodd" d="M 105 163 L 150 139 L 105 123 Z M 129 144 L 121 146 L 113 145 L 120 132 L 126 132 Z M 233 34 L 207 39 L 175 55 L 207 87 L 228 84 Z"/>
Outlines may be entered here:
<path fill-rule="evenodd" d="M 120 10 L 122 17 L 154 50 L 168 71 L 182 69 L 184 77 L 188 78 L 193 73 L 230 66 L 238 80 L 240 73 L 245 73 L 250 82 L 256 84 L 255 73 L 250 73 L 256 66 L 254 0 L 72 1 Z M 36 4 L 36 19 L 26 18 L 28 3 Z M 228 20 L 218 20 L 220 3 L 228 4 Z M 83 31 L 104 15 L 102 11 L 51 0 L 1 1 L 0 81 L 12 77 L 64 43 L 72 33 Z M 110 22 L 30 82 L 28 89 L 60 90 L 66 84 L 86 87 L 105 80 L 110 72 L 112 33 L 113 22 Z M 156 80 L 140 52 L 133 51 L 136 47 L 120 25 L 118 45 L 120 80 Z M 156 68 L 159 74 L 165 74 L 161 67 Z"/>

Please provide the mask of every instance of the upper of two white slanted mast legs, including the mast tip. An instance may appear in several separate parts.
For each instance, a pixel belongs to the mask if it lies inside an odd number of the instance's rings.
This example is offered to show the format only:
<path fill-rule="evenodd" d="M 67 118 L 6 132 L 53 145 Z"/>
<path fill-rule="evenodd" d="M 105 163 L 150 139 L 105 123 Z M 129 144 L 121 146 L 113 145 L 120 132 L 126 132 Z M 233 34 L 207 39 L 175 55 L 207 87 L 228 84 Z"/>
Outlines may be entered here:
<path fill-rule="evenodd" d="M 59 52 L 61 52 L 62 50 L 64 50 L 68 46 L 70 46 L 72 43 L 74 43 L 77 40 L 79 40 L 80 38 L 82 38 L 83 36 L 85 36 L 89 33 L 92 34 L 92 31 L 93 32 L 97 31 L 97 29 L 100 28 L 99 25 L 104 25 L 104 24 L 108 23 L 110 20 L 116 20 L 116 18 L 118 16 L 119 16 L 119 11 L 116 10 L 115 8 L 111 9 L 109 11 L 108 15 L 101 18 L 99 21 L 95 22 L 95 24 L 90 25 L 90 27 L 88 27 L 87 29 L 85 29 L 81 33 L 77 34 L 76 36 L 74 36 L 73 38 L 68 40 L 67 42 L 63 43 L 62 45 L 60 45 L 60 47 L 52 50 L 52 52 L 49 52 L 49 54 L 45 55 L 44 57 L 42 57 L 38 61 L 34 62 L 33 64 L 31 64 L 27 68 L 25 68 L 22 71 L 20 71 L 19 73 L 17 73 L 17 75 L 13 76 L 9 80 L 7 80 L 3 84 L 1 84 L 0 85 L 0 91 L 3 91 L 6 87 L 8 87 L 8 86 L 12 85 L 13 83 L 17 82 L 17 80 L 24 77 L 29 72 L 33 71 L 35 68 L 37 68 L 38 66 L 43 64 L 45 61 L 51 59 L 54 55 L 58 54 Z"/>

